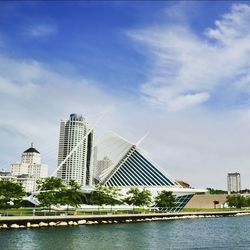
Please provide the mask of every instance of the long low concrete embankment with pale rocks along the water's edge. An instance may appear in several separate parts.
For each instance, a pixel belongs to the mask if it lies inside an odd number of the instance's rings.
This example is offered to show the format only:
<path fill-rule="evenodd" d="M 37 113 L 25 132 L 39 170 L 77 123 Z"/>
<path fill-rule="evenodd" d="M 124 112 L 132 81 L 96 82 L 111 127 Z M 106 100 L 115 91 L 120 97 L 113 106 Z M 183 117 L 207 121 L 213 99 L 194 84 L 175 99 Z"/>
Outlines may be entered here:
<path fill-rule="evenodd" d="M 155 214 L 110 214 L 110 215 L 62 215 L 62 216 L 3 216 L 0 228 L 39 228 L 55 226 L 77 226 L 108 223 L 129 223 L 158 220 L 210 218 L 250 215 L 250 211 L 182 212 Z"/>

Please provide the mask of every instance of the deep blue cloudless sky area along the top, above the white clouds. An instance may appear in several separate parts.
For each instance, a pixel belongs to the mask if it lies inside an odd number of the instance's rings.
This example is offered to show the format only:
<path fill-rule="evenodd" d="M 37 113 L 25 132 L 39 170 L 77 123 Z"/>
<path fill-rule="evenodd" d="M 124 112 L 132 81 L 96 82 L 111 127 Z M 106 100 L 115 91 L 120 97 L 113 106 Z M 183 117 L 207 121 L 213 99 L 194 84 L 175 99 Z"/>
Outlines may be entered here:
<path fill-rule="evenodd" d="M 130 86 L 134 89 L 146 79 L 147 60 L 136 51 L 138 45 L 132 44 L 127 31 L 179 23 L 183 20 L 178 15 L 182 15 L 202 35 L 204 28 L 213 25 L 211 17 L 230 6 L 228 2 L 212 7 L 210 2 L 180 3 L 180 10 L 175 10 L 180 13 L 168 17 L 166 10 L 178 8 L 178 3 L 54 1 L 1 5 L 1 33 L 6 38 L 3 53 L 38 60 L 58 72 L 66 70 L 95 79 L 117 91 L 128 91 Z"/>

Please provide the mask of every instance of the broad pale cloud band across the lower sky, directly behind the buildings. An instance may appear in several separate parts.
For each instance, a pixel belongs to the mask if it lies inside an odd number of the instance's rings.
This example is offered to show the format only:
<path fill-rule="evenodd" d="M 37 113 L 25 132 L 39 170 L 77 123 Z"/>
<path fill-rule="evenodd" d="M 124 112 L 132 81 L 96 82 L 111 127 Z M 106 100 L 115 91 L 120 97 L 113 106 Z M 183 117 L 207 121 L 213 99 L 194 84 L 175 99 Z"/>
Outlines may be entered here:
<path fill-rule="evenodd" d="M 25 73 L 27 72 L 27 74 Z M 88 79 L 59 74 L 37 61 L 0 59 L 0 164 L 7 167 L 33 141 L 43 161 L 55 168 L 59 121 L 81 113 L 93 124 L 112 106 L 98 126 L 97 135 L 114 130 L 142 144 L 152 159 L 173 177 L 196 187 L 225 188 L 227 171 L 250 178 L 249 113 L 216 115 L 205 110 L 166 112 L 126 97 L 110 96 Z M 207 98 L 206 92 L 186 96 L 179 104 Z M 215 177 L 216 173 L 216 177 Z"/>

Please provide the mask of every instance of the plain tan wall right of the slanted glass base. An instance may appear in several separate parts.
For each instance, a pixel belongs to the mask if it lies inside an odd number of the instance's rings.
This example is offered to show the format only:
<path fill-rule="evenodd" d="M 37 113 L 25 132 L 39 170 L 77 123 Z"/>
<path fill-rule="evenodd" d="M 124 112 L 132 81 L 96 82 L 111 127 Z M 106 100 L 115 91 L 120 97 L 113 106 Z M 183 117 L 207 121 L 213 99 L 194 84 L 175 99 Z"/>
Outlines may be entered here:
<path fill-rule="evenodd" d="M 219 202 L 216 207 L 220 208 L 226 202 L 226 197 L 227 194 L 194 195 L 185 208 L 214 208 L 214 201 Z"/>

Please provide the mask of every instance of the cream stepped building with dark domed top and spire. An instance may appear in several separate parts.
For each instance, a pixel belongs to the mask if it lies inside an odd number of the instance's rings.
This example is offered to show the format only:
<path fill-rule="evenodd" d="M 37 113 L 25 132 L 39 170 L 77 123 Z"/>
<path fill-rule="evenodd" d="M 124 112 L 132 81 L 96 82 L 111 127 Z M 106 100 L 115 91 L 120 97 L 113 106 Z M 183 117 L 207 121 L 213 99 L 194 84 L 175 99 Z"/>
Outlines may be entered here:
<path fill-rule="evenodd" d="M 20 163 L 11 164 L 11 174 L 23 184 L 26 192 L 36 191 L 37 180 L 48 177 L 48 166 L 41 163 L 41 154 L 33 143 L 22 153 Z"/>

